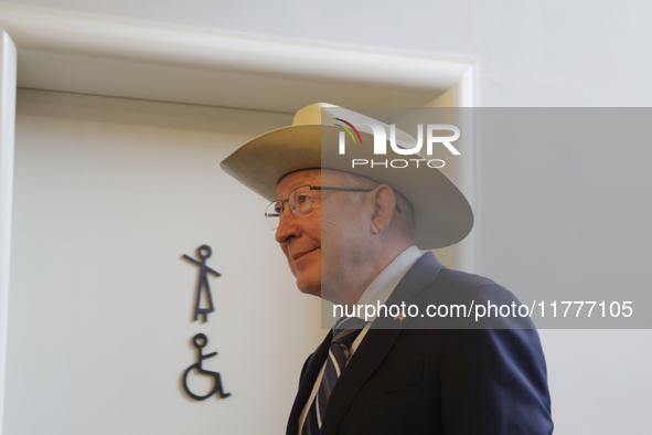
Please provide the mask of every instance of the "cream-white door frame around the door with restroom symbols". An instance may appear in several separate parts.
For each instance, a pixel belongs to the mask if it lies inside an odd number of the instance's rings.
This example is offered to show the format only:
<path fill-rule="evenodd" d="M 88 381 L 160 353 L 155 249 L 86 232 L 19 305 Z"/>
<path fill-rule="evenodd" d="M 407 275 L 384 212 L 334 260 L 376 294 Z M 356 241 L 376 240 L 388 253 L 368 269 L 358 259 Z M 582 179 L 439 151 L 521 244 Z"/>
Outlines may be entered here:
<path fill-rule="evenodd" d="M 469 57 L 0 6 L 0 435 L 17 87 L 287 113 L 314 103 L 324 89 L 334 96 L 329 103 L 350 107 L 478 105 L 475 60 Z M 468 150 L 458 169 L 471 204 L 472 155 Z M 456 246 L 458 267 L 469 272 L 473 238 L 471 233 Z"/>

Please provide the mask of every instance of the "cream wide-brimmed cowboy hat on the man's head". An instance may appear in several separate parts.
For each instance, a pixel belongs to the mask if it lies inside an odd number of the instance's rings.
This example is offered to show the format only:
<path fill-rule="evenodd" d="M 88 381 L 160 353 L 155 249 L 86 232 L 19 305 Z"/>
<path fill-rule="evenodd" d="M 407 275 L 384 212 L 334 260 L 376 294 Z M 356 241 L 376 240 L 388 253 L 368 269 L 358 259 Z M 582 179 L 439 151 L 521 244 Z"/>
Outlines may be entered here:
<path fill-rule="evenodd" d="M 344 130 L 335 126 L 343 124 L 342 119 L 357 127 L 361 141 L 349 145 L 344 155 L 340 153 L 338 146 L 339 135 Z M 386 147 L 386 155 L 374 155 L 370 124 L 383 126 L 385 131 L 389 131 L 386 124 L 353 110 L 323 103 L 312 104 L 297 112 L 291 126 L 249 140 L 224 159 L 221 166 L 269 201 L 277 199 L 276 185 L 289 172 L 334 169 L 364 176 L 391 185 L 407 198 L 416 221 L 415 243 L 421 250 L 449 246 L 464 238 L 473 226 L 473 212 L 457 185 L 439 169 L 428 166 L 428 159 L 419 155 L 399 155 L 389 146 Z M 395 131 L 397 146 L 406 149 L 415 146 L 416 140 L 411 136 L 399 129 Z M 418 167 L 352 165 L 353 159 L 391 162 L 394 159 L 407 161 L 418 158 L 424 159 Z"/>

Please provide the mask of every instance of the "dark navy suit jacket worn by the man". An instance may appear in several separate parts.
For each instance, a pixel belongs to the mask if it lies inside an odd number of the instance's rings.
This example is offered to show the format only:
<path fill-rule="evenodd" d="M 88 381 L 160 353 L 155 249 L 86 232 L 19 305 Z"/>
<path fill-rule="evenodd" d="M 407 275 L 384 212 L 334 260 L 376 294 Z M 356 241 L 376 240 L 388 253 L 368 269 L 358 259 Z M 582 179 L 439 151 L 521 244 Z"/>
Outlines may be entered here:
<path fill-rule="evenodd" d="M 386 305 L 405 301 L 425 312 L 428 304 L 462 299 L 507 305 L 516 300 L 490 279 L 447 269 L 426 253 Z M 458 323 L 460 329 L 419 329 L 432 328 L 419 323 L 430 320 L 376 319 L 331 393 L 322 435 L 553 432 L 545 360 L 535 329 L 462 329 L 478 328 L 470 320 Z M 530 320 L 500 327 L 505 326 L 533 328 Z M 331 339 L 332 332 L 303 365 L 288 435 L 298 434 L 299 416 Z"/>

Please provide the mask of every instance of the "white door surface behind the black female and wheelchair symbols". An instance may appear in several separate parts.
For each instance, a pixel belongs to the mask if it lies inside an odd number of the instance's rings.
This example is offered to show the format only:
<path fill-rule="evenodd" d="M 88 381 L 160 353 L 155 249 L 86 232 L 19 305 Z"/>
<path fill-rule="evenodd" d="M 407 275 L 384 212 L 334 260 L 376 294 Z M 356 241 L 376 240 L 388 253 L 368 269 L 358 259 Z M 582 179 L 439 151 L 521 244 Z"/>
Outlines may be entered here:
<path fill-rule="evenodd" d="M 319 299 L 218 165 L 290 117 L 29 89 L 17 115 L 3 434 L 282 433 Z M 181 259 L 202 244 L 222 274 L 207 323 Z M 199 332 L 231 397 L 182 393 Z"/>

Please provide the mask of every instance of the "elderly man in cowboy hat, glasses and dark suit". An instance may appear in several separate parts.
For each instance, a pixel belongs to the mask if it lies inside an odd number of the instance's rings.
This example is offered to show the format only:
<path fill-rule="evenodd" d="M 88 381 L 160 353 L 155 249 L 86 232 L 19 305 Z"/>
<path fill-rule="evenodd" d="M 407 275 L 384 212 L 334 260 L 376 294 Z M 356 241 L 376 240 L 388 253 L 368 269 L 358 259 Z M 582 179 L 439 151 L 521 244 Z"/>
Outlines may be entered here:
<path fill-rule="evenodd" d="M 368 322 L 339 319 L 308 358 L 287 433 L 552 433 L 545 360 L 528 320 L 470 325 L 462 316 L 437 323 L 381 309 L 414 306 L 423 314 L 428 306 L 516 299 L 487 278 L 421 255 L 419 247 L 457 243 L 472 226 L 468 202 L 442 172 L 355 170 L 352 160 L 370 159 L 375 137 L 355 130 L 362 144 L 346 156 L 336 120 L 384 126 L 311 105 L 292 126 L 253 139 L 222 162 L 272 201 L 266 216 L 302 293 L 345 308 L 378 307 Z M 388 158 L 397 156 L 392 152 Z"/>

